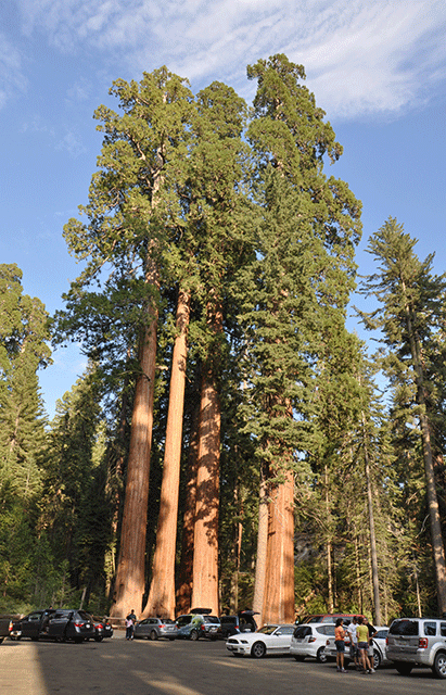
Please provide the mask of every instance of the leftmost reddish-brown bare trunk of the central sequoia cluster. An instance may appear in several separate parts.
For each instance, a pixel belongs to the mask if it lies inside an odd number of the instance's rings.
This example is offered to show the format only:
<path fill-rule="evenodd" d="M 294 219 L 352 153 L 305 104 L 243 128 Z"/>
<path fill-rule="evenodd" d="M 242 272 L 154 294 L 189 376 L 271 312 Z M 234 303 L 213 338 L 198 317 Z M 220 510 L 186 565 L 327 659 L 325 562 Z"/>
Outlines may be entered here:
<path fill-rule="evenodd" d="M 157 282 L 155 265 L 146 280 Z M 131 609 L 142 609 L 145 591 L 145 533 L 149 498 L 150 453 L 153 428 L 153 395 L 156 366 L 156 328 L 158 312 L 152 301 L 148 306 L 148 324 L 143 329 L 133 410 L 130 448 L 127 463 L 126 496 L 120 531 L 119 559 L 115 582 L 115 604 L 111 615 L 123 617 Z"/>

